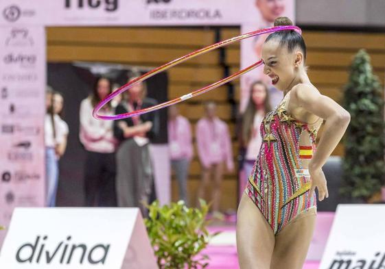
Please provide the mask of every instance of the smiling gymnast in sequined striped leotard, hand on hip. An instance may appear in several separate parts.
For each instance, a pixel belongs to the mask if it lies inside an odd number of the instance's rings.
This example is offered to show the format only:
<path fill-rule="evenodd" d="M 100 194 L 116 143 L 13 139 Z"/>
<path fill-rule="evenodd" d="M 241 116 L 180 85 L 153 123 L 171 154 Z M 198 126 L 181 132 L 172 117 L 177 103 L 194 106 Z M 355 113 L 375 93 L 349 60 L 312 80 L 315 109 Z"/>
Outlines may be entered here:
<path fill-rule="evenodd" d="M 280 17 L 279 25 L 292 22 Z M 262 60 L 264 73 L 284 97 L 261 123 L 263 143 L 237 213 L 237 251 L 242 269 L 300 269 L 314 231 L 314 190 L 319 201 L 327 198 L 322 166 L 350 115 L 310 82 L 305 42 L 296 31 L 270 34 Z"/>

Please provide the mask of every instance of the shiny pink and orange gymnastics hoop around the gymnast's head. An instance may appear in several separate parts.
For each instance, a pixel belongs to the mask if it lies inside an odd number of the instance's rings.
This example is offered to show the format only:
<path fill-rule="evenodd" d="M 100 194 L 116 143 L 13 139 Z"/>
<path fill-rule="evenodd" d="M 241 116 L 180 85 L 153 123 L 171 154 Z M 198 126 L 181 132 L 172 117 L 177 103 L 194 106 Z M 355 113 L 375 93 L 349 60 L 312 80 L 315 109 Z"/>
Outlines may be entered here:
<path fill-rule="evenodd" d="M 233 79 L 236 79 L 237 77 L 240 77 L 241 75 L 247 73 L 248 71 L 252 71 L 254 68 L 257 68 L 261 64 L 263 64 L 262 60 L 259 60 L 258 62 L 255 62 L 254 64 L 251 64 L 250 66 L 247 66 L 246 68 L 238 71 L 237 73 L 234 73 L 233 75 L 230 75 L 229 77 L 225 77 L 224 79 L 221 79 L 219 81 L 214 82 L 213 84 L 210 84 L 209 86 L 205 86 L 203 88 L 200 88 L 199 90 L 195 90 L 194 92 L 190 92 L 189 94 L 185 94 L 181 97 L 178 97 L 176 99 L 166 101 L 164 103 L 161 103 L 159 105 L 153 105 L 152 107 L 143 108 L 142 110 L 136 110 L 133 112 L 127 112 L 124 114 L 117 114 L 117 115 L 100 115 L 98 114 L 99 110 L 109 101 L 111 101 L 114 97 L 121 94 L 122 92 L 125 92 L 126 90 L 129 90 L 132 88 L 132 86 L 135 86 L 136 84 L 141 83 L 142 81 L 145 81 L 145 79 L 148 79 L 149 77 L 152 77 L 158 73 L 161 73 L 163 71 L 166 71 L 169 68 L 172 68 L 172 66 L 176 66 L 177 64 L 180 64 L 182 62 L 185 62 L 193 57 L 196 57 L 198 55 L 202 55 L 204 53 L 207 53 L 209 51 L 212 51 L 213 49 L 218 49 L 220 47 L 224 47 L 228 44 L 231 44 L 233 42 L 237 42 L 240 40 L 244 40 L 246 38 L 250 38 L 253 36 L 259 36 L 261 34 L 269 34 L 273 33 L 275 31 L 284 31 L 284 30 L 294 30 L 301 34 L 301 28 L 296 27 L 294 25 L 281 25 L 276 27 L 270 27 L 266 29 L 259 29 L 257 31 L 250 31 L 249 33 L 242 34 L 240 36 L 235 36 L 234 38 L 229 38 L 227 40 L 217 42 L 215 44 L 211 44 L 210 46 L 204 47 L 202 49 L 198 49 L 198 51 L 191 52 L 185 56 L 179 57 L 176 60 L 173 60 L 172 62 L 168 62 L 167 64 L 163 64 L 163 66 L 159 66 L 158 68 L 154 68 L 152 71 L 149 71 L 148 73 L 145 73 L 144 75 L 141 75 L 141 77 L 137 77 L 136 79 L 132 79 L 132 81 L 128 82 L 128 84 L 125 84 L 124 86 L 121 86 L 119 89 L 117 89 L 115 92 L 111 92 L 108 94 L 108 96 L 100 101 L 96 105 L 96 107 L 93 110 L 93 117 L 100 119 L 100 120 L 119 120 L 121 118 L 130 118 L 132 116 L 139 116 L 141 114 L 145 114 L 148 112 L 153 112 L 155 110 L 160 110 L 161 108 L 168 107 L 170 105 L 175 105 L 176 103 L 180 103 L 182 101 L 185 101 L 187 99 L 190 99 L 192 97 L 196 97 L 200 94 L 203 94 L 205 92 L 209 92 L 210 90 L 213 90 L 223 84 L 226 84 L 229 81 L 232 81 Z"/>

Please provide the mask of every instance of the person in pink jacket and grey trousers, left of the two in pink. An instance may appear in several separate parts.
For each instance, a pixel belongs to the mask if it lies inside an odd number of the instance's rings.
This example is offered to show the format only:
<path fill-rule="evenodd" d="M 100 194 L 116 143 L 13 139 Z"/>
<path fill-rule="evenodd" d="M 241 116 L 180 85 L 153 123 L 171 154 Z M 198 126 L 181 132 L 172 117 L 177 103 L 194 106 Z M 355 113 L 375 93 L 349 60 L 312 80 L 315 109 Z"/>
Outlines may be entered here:
<path fill-rule="evenodd" d="M 168 109 L 167 129 L 171 166 L 178 180 L 179 198 L 188 205 L 187 176 L 193 156 L 191 126 L 187 118 L 180 116 L 176 105 Z"/>

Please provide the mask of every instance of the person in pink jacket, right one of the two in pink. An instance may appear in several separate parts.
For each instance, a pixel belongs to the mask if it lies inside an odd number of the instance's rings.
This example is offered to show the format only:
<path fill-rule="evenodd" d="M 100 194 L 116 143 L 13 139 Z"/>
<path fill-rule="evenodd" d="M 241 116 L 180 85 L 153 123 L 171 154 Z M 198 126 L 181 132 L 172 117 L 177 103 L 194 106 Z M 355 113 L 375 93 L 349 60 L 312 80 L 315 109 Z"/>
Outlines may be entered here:
<path fill-rule="evenodd" d="M 229 128 L 215 114 L 215 103 L 213 101 L 205 103 L 205 117 L 201 118 L 196 126 L 196 143 L 202 166 L 202 179 L 198 189 L 198 198 L 205 197 L 205 190 L 212 172 L 214 179 L 213 214 L 219 212 L 220 184 L 224 163 L 226 163 L 229 172 L 234 169 Z"/>

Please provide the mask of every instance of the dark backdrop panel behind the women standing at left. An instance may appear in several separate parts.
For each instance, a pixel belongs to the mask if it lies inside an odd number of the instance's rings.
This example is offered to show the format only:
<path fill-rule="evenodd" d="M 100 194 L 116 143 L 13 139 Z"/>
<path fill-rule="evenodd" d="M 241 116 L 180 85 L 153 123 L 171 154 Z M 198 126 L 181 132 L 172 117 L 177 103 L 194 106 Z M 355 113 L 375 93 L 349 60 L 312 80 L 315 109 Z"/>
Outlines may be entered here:
<path fill-rule="evenodd" d="M 110 78 L 115 86 L 127 83 L 133 73 L 143 75 L 150 68 L 124 66 L 121 64 L 73 62 L 49 63 L 47 84 L 60 92 L 64 98 L 63 119 L 69 125 L 67 151 L 60 159 L 58 206 L 83 206 L 83 179 L 85 150 L 79 140 L 80 103 L 92 92 L 97 76 Z M 162 72 L 145 81 L 149 98 L 158 103 L 167 101 L 168 77 Z M 152 112 L 153 113 L 153 112 Z M 159 134 L 151 142 L 167 144 L 167 109 L 159 110 Z"/>

